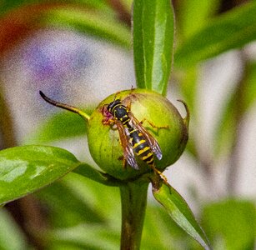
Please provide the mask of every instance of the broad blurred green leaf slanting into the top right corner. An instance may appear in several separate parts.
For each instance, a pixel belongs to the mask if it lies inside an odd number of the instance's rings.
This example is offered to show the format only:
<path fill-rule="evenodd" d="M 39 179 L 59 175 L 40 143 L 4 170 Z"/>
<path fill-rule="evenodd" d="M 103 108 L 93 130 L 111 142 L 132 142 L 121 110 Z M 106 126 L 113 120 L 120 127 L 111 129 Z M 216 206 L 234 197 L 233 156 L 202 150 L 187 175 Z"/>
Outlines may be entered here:
<path fill-rule="evenodd" d="M 175 65 L 188 67 L 256 39 L 256 2 L 243 4 L 214 18 L 183 42 L 175 53 Z"/>

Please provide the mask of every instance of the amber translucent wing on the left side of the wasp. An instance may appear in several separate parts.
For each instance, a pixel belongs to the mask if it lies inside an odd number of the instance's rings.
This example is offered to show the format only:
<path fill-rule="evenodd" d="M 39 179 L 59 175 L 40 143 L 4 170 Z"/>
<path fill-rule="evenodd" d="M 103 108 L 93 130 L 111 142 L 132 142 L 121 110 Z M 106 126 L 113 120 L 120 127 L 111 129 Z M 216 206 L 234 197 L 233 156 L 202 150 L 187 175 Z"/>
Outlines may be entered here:
<path fill-rule="evenodd" d="M 138 164 L 133 153 L 133 146 L 128 140 L 128 136 L 125 133 L 123 124 L 121 122 L 116 122 L 116 124 L 118 127 L 119 138 L 123 148 L 123 157 L 132 168 L 138 169 Z"/>

